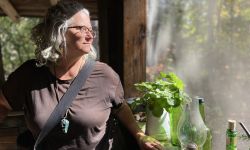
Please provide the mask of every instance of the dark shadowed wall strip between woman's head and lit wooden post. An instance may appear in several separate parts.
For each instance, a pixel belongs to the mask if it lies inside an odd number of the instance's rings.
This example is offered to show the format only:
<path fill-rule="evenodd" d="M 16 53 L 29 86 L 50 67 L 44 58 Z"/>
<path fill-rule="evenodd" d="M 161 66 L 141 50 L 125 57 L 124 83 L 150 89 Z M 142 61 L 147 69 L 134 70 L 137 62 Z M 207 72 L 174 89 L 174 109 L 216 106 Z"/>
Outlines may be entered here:
<path fill-rule="evenodd" d="M 123 0 L 98 0 L 100 60 L 109 64 L 123 83 Z"/>

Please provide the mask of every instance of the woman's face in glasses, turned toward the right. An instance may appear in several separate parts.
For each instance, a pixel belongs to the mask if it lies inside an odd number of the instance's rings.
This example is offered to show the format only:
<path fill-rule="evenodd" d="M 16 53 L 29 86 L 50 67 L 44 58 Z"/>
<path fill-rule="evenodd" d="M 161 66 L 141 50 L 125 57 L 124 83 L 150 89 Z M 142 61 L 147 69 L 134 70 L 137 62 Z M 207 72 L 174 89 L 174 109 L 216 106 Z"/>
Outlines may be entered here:
<path fill-rule="evenodd" d="M 93 42 L 90 18 L 83 11 L 71 17 L 66 32 L 66 45 L 69 55 L 84 55 L 89 53 Z"/>

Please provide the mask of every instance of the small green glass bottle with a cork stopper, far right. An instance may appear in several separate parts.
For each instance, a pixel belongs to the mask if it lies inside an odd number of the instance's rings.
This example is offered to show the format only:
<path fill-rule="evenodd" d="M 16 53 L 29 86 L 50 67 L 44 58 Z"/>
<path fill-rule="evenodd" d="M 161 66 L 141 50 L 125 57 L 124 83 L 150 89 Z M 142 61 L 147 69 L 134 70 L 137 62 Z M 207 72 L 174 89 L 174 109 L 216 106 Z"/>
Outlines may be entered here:
<path fill-rule="evenodd" d="M 228 120 L 228 129 L 226 132 L 226 150 L 237 150 L 237 131 L 235 120 Z"/>

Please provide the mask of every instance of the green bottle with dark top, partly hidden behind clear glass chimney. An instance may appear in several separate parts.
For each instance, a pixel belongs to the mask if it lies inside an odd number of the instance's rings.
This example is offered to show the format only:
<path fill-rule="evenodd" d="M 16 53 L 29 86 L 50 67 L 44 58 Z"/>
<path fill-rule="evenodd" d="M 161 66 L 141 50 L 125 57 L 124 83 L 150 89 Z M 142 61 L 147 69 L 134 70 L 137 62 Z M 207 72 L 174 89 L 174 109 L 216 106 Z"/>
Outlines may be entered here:
<path fill-rule="evenodd" d="M 201 116 L 203 118 L 204 123 L 206 124 L 204 98 L 198 97 L 197 99 L 199 100 L 199 109 Z M 212 133 L 208 127 L 206 130 L 207 130 L 207 139 L 203 145 L 203 150 L 212 150 Z"/>

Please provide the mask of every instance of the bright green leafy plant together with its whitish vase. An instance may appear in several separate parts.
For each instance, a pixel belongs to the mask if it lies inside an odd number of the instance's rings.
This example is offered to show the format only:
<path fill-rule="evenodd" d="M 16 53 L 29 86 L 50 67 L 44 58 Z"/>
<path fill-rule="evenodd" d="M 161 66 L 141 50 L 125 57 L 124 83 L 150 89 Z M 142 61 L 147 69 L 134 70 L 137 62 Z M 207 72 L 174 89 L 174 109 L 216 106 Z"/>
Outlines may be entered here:
<path fill-rule="evenodd" d="M 182 80 L 173 72 L 161 72 L 154 81 L 136 83 L 135 87 L 142 95 L 131 106 L 146 106 L 146 133 L 158 140 L 170 140 L 169 113 L 190 101 Z"/>

